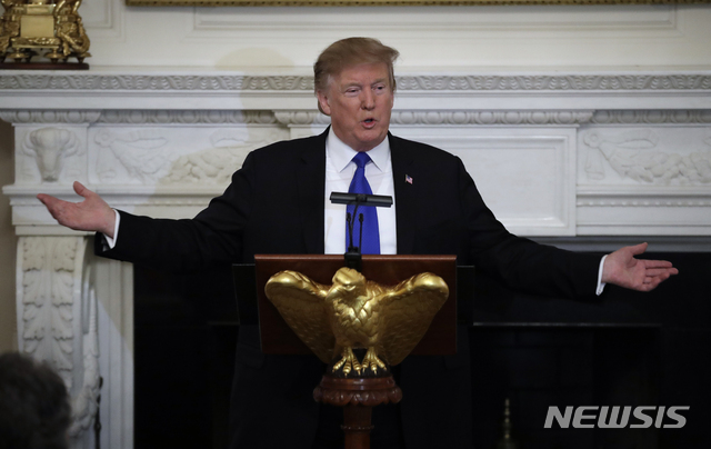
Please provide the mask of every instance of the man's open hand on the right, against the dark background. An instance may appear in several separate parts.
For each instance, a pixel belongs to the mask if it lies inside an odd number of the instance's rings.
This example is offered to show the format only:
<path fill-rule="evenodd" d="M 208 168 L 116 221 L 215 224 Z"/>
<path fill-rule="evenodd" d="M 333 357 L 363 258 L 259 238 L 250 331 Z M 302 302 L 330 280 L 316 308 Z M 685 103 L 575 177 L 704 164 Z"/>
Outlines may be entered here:
<path fill-rule="evenodd" d="M 623 247 L 608 255 L 602 268 L 602 282 L 638 291 L 651 291 L 670 276 L 679 273 L 667 260 L 635 259 L 647 250 L 647 243 Z"/>

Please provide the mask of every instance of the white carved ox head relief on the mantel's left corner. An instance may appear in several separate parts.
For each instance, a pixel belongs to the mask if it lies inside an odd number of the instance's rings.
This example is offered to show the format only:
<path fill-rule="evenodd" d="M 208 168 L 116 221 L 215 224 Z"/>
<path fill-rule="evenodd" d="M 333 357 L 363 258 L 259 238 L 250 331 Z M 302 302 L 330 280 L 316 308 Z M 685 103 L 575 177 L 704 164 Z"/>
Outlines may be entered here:
<path fill-rule="evenodd" d="M 42 180 L 47 182 L 59 179 L 63 160 L 78 150 L 77 134 L 66 129 L 42 128 L 24 137 L 24 153 L 34 157 Z"/>

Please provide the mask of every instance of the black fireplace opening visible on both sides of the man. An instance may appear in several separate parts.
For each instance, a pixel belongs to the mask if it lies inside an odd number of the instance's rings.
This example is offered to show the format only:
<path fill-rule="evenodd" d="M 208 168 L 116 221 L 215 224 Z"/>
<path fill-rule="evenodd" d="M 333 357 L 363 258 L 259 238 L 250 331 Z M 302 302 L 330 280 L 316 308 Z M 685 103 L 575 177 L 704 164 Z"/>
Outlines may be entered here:
<path fill-rule="evenodd" d="M 470 321 L 474 441 L 493 448 L 509 399 L 520 448 L 710 447 L 711 255 L 665 253 L 651 293 L 571 301 L 477 275 Z M 228 269 L 136 269 L 136 448 L 223 448 L 238 319 Z M 690 406 L 682 429 L 544 429 L 548 407 Z"/>

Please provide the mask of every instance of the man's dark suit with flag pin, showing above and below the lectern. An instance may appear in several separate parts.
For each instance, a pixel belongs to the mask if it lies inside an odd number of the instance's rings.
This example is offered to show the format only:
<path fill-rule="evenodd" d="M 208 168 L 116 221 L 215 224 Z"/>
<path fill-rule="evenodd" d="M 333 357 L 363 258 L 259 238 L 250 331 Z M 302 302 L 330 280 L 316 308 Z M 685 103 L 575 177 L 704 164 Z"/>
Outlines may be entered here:
<path fill-rule="evenodd" d="M 101 256 L 162 270 L 249 262 L 256 253 L 323 253 L 326 136 L 252 151 L 224 193 L 192 220 L 121 212 L 114 249 Z M 540 246 L 497 221 L 461 160 L 389 134 L 398 253 L 457 255 L 514 289 L 590 296 L 598 256 Z M 405 182 L 405 176 L 412 183 Z M 232 396 L 239 447 L 309 448 L 318 425 L 312 389 L 323 373 L 313 357 L 264 356 L 253 329 L 240 329 Z M 471 448 L 469 353 L 402 365 L 408 448 Z M 444 410 L 441 403 L 449 403 Z M 439 406 L 439 407 L 438 407 Z M 271 427 L 274 423 L 276 427 Z M 271 430 L 270 430 L 271 429 Z"/>

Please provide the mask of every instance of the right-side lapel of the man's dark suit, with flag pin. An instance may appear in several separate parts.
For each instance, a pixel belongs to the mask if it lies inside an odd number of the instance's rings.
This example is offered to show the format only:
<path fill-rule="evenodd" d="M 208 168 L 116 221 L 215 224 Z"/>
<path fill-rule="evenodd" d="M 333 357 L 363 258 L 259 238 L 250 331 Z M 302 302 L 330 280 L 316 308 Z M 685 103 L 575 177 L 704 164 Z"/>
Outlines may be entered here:
<path fill-rule="evenodd" d="M 398 229 L 398 253 L 411 255 L 414 249 L 414 228 L 417 220 L 417 194 L 413 183 L 405 177 L 413 177 L 414 157 L 405 148 L 404 141 L 388 133 L 392 158 L 392 176 L 395 191 L 395 220 Z"/>

